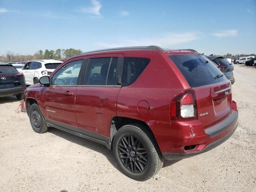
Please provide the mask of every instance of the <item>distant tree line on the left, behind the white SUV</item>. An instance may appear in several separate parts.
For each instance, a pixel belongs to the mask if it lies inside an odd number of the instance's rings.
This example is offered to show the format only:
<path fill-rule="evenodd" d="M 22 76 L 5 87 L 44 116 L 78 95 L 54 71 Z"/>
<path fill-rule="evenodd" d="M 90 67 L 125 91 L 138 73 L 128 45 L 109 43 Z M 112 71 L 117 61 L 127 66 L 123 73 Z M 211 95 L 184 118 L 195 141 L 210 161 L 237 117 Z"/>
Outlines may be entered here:
<path fill-rule="evenodd" d="M 81 54 L 80 49 L 57 49 L 45 51 L 39 50 L 34 55 L 19 55 L 14 54 L 11 51 L 7 51 L 5 55 L 0 56 L 0 62 L 21 62 L 21 61 L 31 61 L 37 59 L 68 59 L 77 54 Z"/>

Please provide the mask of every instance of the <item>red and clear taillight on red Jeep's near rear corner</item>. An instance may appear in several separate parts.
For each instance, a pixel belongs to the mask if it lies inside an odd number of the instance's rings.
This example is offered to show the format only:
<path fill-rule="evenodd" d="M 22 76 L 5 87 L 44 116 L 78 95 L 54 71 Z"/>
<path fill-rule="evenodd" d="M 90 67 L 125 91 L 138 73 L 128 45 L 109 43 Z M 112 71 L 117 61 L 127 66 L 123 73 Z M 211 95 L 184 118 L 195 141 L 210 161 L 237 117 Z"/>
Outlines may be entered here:
<path fill-rule="evenodd" d="M 197 118 L 196 96 L 194 90 L 180 92 L 170 106 L 171 120 L 188 120 Z"/>

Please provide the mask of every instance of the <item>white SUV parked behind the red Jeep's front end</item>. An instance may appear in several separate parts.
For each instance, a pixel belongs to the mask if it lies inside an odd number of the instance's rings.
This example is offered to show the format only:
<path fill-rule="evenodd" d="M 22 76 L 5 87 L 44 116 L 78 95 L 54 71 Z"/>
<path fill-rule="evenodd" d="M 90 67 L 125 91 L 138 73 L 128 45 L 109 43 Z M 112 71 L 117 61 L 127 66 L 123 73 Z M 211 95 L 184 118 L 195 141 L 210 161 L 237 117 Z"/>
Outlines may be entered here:
<path fill-rule="evenodd" d="M 24 74 L 26 84 L 33 85 L 39 83 L 39 78 L 50 75 L 62 61 L 54 59 L 34 60 L 28 62 L 21 70 Z"/>

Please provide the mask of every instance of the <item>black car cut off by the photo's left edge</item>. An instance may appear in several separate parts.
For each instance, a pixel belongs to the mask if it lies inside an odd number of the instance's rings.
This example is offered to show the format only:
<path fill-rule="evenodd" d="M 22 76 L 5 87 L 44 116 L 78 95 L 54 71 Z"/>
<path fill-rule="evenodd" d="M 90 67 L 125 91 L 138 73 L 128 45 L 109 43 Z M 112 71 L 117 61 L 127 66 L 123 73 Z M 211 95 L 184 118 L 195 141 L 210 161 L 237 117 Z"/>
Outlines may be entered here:
<path fill-rule="evenodd" d="M 26 82 L 20 74 L 8 63 L 0 63 L 0 97 L 15 95 L 18 100 L 23 99 Z"/>

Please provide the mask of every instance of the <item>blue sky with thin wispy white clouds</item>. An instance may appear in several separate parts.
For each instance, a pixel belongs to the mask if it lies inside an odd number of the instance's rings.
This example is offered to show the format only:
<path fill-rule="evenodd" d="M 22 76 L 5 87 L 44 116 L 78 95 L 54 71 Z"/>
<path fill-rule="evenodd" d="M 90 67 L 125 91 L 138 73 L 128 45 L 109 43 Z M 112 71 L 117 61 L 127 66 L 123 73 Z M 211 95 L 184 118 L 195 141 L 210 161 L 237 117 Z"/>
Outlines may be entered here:
<path fill-rule="evenodd" d="M 256 53 L 256 0 L 0 0 L 0 54 L 146 45 Z"/>

